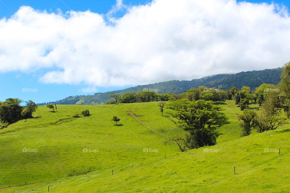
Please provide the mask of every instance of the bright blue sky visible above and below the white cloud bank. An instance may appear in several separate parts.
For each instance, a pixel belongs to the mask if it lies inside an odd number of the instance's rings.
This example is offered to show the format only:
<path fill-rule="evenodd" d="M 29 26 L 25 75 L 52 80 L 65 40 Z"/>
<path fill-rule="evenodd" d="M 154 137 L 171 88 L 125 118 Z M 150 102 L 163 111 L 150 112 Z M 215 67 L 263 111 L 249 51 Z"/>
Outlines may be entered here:
<path fill-rule="evenodd" d="M 132 5 L 142 5 L 150 1 L 142 0 L 124 0 L 123 4 L 127 6 Z M 275 2 L 278 4 L 284 4 L 287 7 L 290 7 L 290 1 L 263 1 L 263 0 L 249 0 L 247 2 L 261 3 L 261 2 Z M 116 4 L 114 0 L 85 0 L 85 1 L 76 1 L 76 0 L 0 0 L 0 18 L 6 17 L 10 18 L 18 9 L 23 6 L 30 6 L 36 10 L 47 10 L 48 13 L 58 12 L 60 9 L 63 13 L 66 11 L 86 11 L 90 10 L 98 14 L 106 14 L 112 9 L 112 6 Z M 116 12 L 117 17 L 122 17 L 124 12 Z M 116 16 L 116 15 L 115 15 Z M 271 28 L 270 28 L 271 29 Z M 1 49 L 0 49 L 1 52 Z M 1 53 L 0 53 L 1 54 Z M 0 64 L 5 65 L 5 64 Z M 278 65 L 279 66 L 279 65 Z M 280 65 L 281 66 L 281 65 Z M 276 66 L 273 66 L 276 67 Z M 252 70 L 252 69 L 248 69 Z M 27 71 L 23 70 L 12 70 L 12 71 L 0 71 L 0 101 L 4 101 L 6 98 L 21 98 L 22 100 L 33 100 L 36 103 L 50 102 L 55 100 L 63 99 L 67 96 L 75 95 L 87 95 L 93 94 L 96 90 L 98 92 L 106 92 L 111 90 L 119 90 L 127 88 L 130 86 L 136 85 L 134 81 L 131 83 L 123 84 L 122 86 L 116 85 L 106 85 L 106 86 L 94 86 L 88 84 L 85 81 L 80 81 L 76 84 L 67 84 L 67 83 L 50 83 L 45 81 L 40 81 L 40 77 L 47 72 L 47 68 L 39 69 L 35 71 L 33 68 Z M 229 71 L 225 71 L 227 73 Z M 209 75 L 209 74 L 208 74 Z M 176 78 L 172 76 L 171 79 Z M 195 78 L 195 77 L 193 77 Z M 176 78 L 177 79 L 177 78 Z M 183 78 L 179 78 L 180 80 Z M 190 78 L 184 78 L 190 79 Z M 150 79 L 151 80 L 151 79 Z M 148 83 L 154 83 L 154 82 Z M 155 79 L 154 79 L 155 80 Z M 167 79 L 160 78 L 158 81 L 165 81 Z M 90 88 L 92 92 L 83 92 L 84 89 Z M 88 90 L 88 89 L 87 89 Z"/>

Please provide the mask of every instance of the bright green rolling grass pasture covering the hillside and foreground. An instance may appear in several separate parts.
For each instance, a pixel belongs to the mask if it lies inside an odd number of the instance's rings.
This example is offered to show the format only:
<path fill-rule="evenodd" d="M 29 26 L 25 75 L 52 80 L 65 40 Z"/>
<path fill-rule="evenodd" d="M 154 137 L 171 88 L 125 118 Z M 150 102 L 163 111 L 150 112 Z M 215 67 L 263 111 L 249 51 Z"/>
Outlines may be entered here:
<path fill-rule="evenodd" d="M 0 192 L 288 192 L 289 125 L 241 138 L 240 109 L 221 106 L 230 124 L 218 128 L 217 144 L 187 152 L 163 136 L 184 131 L 157 102 L 40 106 L 34 119 L 0 130 Z M 84 109 L 92 115 L 73 117 Z"/>

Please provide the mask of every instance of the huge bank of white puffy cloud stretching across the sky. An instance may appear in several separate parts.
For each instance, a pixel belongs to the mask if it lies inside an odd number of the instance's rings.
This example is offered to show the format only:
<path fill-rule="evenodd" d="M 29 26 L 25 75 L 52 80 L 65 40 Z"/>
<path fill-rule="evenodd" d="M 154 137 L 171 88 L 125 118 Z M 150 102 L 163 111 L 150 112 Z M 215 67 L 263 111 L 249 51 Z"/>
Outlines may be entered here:
<path fill-rule="evenodd" d="M 120 9 L 124 16 L 112 18 Z M 280 5 L 234 0 L 118 0 L 107 15 L 23 6 L 0 20 L 0 42 L 0 72 L 46 71 L 44 83 L 146 84 L 281 67 L 290 18 Z"/>

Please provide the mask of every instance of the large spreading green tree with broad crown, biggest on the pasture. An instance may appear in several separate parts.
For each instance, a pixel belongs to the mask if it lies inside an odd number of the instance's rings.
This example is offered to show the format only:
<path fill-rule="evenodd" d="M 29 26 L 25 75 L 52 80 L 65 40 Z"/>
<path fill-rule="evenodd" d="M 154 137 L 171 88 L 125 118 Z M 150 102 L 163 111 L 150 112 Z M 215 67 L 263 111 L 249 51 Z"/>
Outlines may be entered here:
<path fill-rule="evenodd" d="M 169 103 L 166 115 L 179 128 L 189 132 L 191 147 L 198 148 L 216 143 L 220 135 L 216 128 L 228 123 L 221 110 L 212 101 L 180 99 Z"/>

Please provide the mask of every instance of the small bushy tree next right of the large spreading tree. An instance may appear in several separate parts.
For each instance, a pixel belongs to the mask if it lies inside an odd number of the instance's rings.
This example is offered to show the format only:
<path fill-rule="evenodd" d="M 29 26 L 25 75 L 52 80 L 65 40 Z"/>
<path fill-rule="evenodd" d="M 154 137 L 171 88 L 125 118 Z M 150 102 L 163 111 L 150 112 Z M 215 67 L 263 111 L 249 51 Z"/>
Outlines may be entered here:
<path fill-rule="evenodd" d="M 253 111 L 244 110 L 242 114 L 238 115 L 238 119 L 240 121 L 240 136 L 248 136 L 250 135 L 251 128 L 256 127 L 257 120 L 256 120 L 257 114 Z"/>

